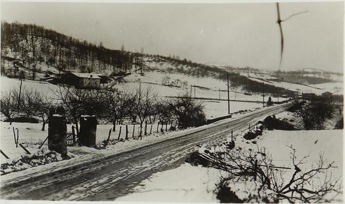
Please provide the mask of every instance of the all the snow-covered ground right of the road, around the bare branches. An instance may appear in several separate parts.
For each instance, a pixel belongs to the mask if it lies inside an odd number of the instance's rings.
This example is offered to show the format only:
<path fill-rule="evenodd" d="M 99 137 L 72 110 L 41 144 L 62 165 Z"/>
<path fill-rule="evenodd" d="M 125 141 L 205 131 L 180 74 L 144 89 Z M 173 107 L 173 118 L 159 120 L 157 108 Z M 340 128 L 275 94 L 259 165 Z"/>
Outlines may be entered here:
<path fill-rule="evenodd" d="M 275 166 L 290 167 L 293 165 L 290 159 L 292 145 L 297 151 L 297 158 L 309 155 L 303 169 L 310 169 L 311 164 L 319 159 L 319 153 L 324 153 L 324 159 L 334 161 L 337 169 L 332 169 L 332 175 L 343 175 L 343 130 L 325 131 L 264 131 L 257 139 L 257 145 L 246 143 L 241 136 L 236 138 L 236 146 L 256 150 L 266 147 L 272 154 Z M 189 174 L 192 172 L 192 174 Z M 287 170 L 286 174 L 292 174 L 293 170 Z M 189 176 L 192 175 L 192 176 Z M 219 181 L 221 172 L 212 168 L 192 167 L 183 164 L 181 167 L 153 174 L 144 180 L 133 193 L 116 199 L 116 201 L 146 201 L 146 202 L 218 202 L 212 191 Z M 341 178 L 342 179 L 342 178 Z M 167 181 L 181 181 L 178 185 Z M 232 186 L 236 189 L 239 198 L 248 196 L 248 189 L 243 184 Z M 196 196 L 199 195 L 200 197 Z M 338 195 L 336 202 L 342 201 L 342 195 Z M 201 199 L 200 199 L 201 198 Z"/>

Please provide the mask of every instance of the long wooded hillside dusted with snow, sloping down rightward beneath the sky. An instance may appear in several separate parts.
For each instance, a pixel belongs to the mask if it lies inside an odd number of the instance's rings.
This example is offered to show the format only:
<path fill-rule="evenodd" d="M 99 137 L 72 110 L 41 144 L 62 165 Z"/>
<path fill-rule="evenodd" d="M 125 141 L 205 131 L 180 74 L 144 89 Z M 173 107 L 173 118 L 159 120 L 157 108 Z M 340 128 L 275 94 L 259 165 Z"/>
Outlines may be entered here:
<path fill-rule="evenodd" d="M 1 74 L 18 77 L 19 68 L 23 68 L 27 77 L 37 80 L 35 73 L 38 65 L 46 63 L 59 72 L 69 70 L 78 72 L 112 73 L 123 75 L 134 69 L 141 72 L 160 71 L 180 73 L 193 77 L 213 77 L 226 83 L 226 71 L 230 72 L 231 89 L 238 88 L 246 92 L 261 93 L 262 83 L 253 81 L 240 72 L 260 72 L 255 68 L 217 67 L 180 59 L 179 56 L 161 56 L 125 51 L 110 50 L 103 46 L 79 40 L 52 29 L 35 24 L 1 22 Z M 156 63 L 153 66 L 151 63 Z M 8 73 L 11 71 L 11 73 Z M 7 73 L 6 73 L 7 72 Z M 310 72 L 309 72 L 310 73 Z M 149 75 L 149 73 L 146 73 Z M 277 72 L 269 74 L 286 81 L 301 84 L 318 84 L 332 80 L 321 77 L 304 76 L 301 72 Z M 314 83 L 315 82 L 315 83 Z M 265 83 L 266 93 L 278 93 L 283 88 Z"/>

